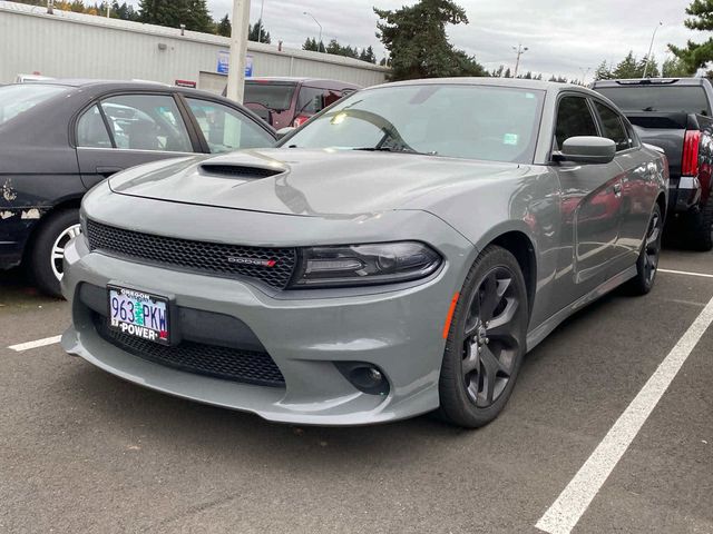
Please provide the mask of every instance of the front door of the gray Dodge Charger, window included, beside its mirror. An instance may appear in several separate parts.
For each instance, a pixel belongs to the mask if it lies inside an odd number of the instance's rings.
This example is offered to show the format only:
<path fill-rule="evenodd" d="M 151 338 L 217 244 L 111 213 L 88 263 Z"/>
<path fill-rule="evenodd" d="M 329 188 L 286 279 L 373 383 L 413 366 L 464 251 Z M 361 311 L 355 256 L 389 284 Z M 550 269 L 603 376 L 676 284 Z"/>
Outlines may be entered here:
<path fill-rule="evenodd" d="M 599 136 L 589 99 L 564 93 L 556 112 L 555 147 L 577 136 Z M 569 295 L 586 295 L 607 279 L 616 258 L 622 221 L 622 170 L 609 164 L 561 162 L 554 167 L 561 187 L 564 265 L 572 267 L 566 277 Z M 563 293 L 563 295 L 566 291 Z M 566 303 L 561 303 L 563 305 Z"/>

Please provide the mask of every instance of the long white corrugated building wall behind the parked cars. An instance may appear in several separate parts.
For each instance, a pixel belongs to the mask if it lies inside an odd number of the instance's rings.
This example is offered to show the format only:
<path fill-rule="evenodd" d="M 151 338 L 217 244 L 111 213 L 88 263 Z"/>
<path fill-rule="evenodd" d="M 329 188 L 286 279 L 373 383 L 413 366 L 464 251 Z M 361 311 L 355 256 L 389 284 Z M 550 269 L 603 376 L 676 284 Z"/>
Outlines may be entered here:
<path fill-rule="evenodd" d="M 198 82 L 216 72 L 223 37 L 128 22 L 0 0 L 0 83 L 18 73 L 57 78 L 143 79 L 164 83 Z M 387 69 L 351 58 L 279 51 L 251 42 L 253 76 L 330 78 L 363 87 L 382 83 Z"/>

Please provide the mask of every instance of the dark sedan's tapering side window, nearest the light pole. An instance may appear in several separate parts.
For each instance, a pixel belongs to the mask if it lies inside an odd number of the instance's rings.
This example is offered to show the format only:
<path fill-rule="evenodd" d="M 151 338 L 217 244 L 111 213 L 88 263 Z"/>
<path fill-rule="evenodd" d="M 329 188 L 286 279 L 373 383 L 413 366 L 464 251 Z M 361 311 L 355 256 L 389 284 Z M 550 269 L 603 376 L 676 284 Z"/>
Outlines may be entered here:
<path fill-rule="evenodd" d="M 208 100 L 186 100 L 198 121 L 211 154 L 228 152 L 240 148 L 272 147 L 275 144 L 270 134 L 240 111 Z"/>

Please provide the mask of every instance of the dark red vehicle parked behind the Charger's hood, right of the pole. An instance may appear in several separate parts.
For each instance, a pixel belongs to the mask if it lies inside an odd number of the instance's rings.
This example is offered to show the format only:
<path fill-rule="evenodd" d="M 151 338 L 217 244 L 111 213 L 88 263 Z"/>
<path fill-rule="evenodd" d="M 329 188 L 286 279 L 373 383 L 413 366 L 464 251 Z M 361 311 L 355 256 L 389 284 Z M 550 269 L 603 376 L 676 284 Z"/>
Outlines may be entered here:
<path fill-rule="evenodd" d="M 359 89 L 353 83 L 316 78 L 254 78 L 245 81 L 243 101 L 275 130 L 281 130 L 300 127 L 314 113 Z"/>

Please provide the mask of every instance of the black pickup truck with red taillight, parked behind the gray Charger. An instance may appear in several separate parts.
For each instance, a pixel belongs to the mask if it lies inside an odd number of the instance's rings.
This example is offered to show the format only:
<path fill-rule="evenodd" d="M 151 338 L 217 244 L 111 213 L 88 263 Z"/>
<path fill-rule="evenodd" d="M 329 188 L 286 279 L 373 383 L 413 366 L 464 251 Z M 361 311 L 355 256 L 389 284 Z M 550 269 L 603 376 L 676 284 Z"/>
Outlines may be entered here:
<path fill-rule="evenodd" d="M 713 87 L 705 78 L 597 81 L 645 142 L 671 166 L 667 234 L 697 250 L 713 249 Z"/>

